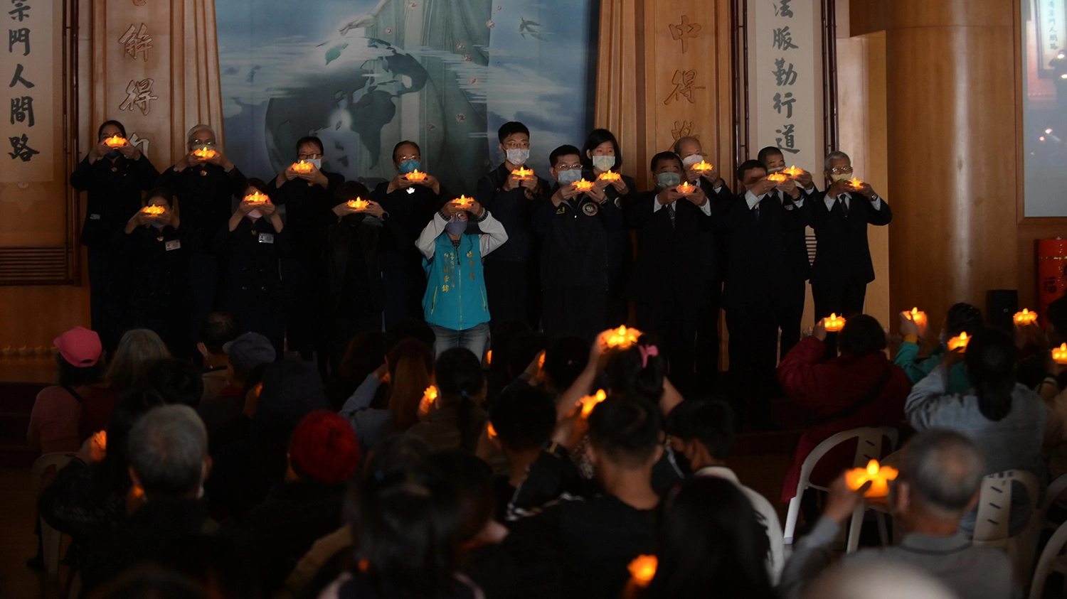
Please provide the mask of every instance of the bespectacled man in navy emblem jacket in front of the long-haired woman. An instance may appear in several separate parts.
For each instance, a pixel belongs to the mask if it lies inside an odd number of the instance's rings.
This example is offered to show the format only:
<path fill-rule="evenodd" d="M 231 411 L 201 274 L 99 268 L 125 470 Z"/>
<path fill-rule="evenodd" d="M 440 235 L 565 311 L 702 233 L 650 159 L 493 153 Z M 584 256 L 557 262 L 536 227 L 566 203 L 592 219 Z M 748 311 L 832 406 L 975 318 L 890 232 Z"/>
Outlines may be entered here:
<path fill-rule="evenodd" d="M 588 192 L 578 148 L 548 155 L 557 183 L 534 213 L 541 244 L 541 319 L 545 335 L 577 335 L 590 342 L 607 326 L 608 240 L 622 228 L 622 212 L 598 181 Z"/>

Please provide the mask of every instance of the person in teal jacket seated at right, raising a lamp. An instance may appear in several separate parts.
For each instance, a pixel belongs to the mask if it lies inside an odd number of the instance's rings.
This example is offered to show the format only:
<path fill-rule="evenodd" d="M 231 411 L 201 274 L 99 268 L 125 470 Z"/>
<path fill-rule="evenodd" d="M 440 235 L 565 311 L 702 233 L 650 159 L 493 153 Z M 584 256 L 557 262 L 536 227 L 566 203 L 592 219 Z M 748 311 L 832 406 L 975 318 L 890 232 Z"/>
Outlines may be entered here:
<path fill-rule="evenodd" d="M 960 333 L 973 336 L 982 329 L 982 310 L 965 303 L 959 303 L 949 308 L 949 313 L 944 318 L 944 326 L 941 329 L 941 338 L 936 349 L 930 355 L 922 360 L 917 360 L 919 356 L 919 342 L 926 338 L 928 324 L 923 321 L 915 323 L 911 318 L 906 317 L 908 312 L 901 312 L 901 334 L 904 335 L 904 342 L 896 351 L 896 358 L 893 360 L 896 366 L 904 369 L 908 375 L 908 381 L 912 385 L 926 377 L 947 351 L 945 341 L 953 337 L 958 337 Z M 956 363 L 949 370 L 947 393 L 962 393 L 971 388 L 971 379 L 967 375 L 967 366 L 964 362 Z"/>

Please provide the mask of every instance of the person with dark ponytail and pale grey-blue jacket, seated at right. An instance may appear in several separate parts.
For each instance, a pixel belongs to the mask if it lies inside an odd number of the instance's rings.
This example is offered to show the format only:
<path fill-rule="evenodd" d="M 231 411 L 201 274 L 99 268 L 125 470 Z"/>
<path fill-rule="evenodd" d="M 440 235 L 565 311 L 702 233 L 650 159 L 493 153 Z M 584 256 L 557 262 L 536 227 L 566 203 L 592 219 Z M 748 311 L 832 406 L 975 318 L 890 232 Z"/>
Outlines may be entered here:
<path fill-rule="evenodd" d="M 904 406 L 915 431 L 947 428 L 971 438 L 985 458 L 983 475 L 1004 470 L 1029 470 L 1045 483 L 1041 447 L 1049 410 L 1041 398 L 1015 381 L 1018 353 L 1012 337 L 996 328 L 981 329 L 967 345 L 946 353 L 941 362 L 911 389 Z M 962 359 L 974 386 L 962 393 L 949 393 L 949 371 Z M 1012 491 L 1014 534 L 1030 519 L 1030 495 L 1022 484 Z M 964 518 L 961 528 L 974 531 L 975 513 Z"/>

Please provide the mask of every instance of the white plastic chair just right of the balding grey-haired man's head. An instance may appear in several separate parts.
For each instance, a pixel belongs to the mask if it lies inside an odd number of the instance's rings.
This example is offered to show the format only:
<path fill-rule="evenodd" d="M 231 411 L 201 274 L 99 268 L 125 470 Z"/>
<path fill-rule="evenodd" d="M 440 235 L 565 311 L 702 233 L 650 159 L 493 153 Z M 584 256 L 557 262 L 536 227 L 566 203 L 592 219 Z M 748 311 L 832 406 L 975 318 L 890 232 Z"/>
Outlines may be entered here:
<path fill-rule="evenodd" d="M 1026 487 L 1031 516 L 1026 527 L 1019 534 L 1008 536 L 1013 482 L 1019 482 Z M 1007 556 L 1012 560 L 1012 569 L 1015 571 L 1017 589 L 1021 589 L 1030 581 L 1034 555 L 1037 553 L 1037 539 L 1044 522 L 1044 514 L 1037 504 L 1039 493 L 1037 476 L 1025 470 L 1005 470 L 989 474 L 982 481 L 973 541 L 974 545 L 986 545 L 1007 551 Z"/>

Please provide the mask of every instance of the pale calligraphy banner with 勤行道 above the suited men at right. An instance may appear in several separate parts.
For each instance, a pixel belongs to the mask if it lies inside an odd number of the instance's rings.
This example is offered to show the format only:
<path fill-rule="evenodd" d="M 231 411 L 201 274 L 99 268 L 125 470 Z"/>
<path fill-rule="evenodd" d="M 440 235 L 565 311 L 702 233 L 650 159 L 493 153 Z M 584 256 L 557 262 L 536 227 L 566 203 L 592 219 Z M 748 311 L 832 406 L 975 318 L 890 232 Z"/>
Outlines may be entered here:
<path fill-rule="evenodd" d="M 822 6 L 813 0 L 748 2 L 750 146 L 781 148 L 786 164 L 811 172 L 822 187 Z"/>

